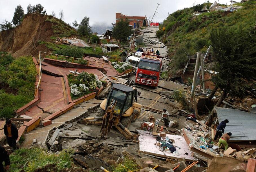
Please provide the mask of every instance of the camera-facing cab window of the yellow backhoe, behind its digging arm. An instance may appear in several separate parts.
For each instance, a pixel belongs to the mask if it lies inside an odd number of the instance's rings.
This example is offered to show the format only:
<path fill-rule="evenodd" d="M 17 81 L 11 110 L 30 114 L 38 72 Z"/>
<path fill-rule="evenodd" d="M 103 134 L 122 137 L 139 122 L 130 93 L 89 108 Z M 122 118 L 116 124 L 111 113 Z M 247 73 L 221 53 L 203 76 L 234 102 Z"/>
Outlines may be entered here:
<path fill-rule="evenodd" d="M 126 93 L 120 90 L 113 90 L 110 100 L 109 100 L 109 104 L 112 102 L 112 100 L 117 100 L 116 102 L 116 106 L 114 109 L 114 113 L 120 113 L 120 111 L 122 110 L 122 106 L 124 104 L 124 100 L 125 100 L 125 96 Z M 108 104 L 108 106 L 109 106 Z"/>

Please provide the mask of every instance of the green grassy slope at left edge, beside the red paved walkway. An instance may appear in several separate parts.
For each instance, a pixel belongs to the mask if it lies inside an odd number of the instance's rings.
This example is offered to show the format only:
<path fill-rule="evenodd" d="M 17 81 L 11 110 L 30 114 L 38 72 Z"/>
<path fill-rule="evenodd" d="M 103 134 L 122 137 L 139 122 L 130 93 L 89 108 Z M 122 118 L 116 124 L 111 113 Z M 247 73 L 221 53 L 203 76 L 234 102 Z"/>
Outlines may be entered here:
<path fill-rule="evenodd" d="M 34 99 L 36 68 L 31 56 L 4 63 L 8 58 L 0 52 L 0 59 L 0 117 L 8 119 Z"/>

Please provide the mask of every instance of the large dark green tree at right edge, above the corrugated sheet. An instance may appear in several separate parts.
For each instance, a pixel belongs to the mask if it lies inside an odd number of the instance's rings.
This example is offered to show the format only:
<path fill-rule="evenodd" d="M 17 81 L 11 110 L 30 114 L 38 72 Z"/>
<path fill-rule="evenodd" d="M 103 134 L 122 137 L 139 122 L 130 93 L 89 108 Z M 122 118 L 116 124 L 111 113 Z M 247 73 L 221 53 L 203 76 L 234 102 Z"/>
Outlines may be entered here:
<path fill-rule="evenodd" d="M 212 77 L 215 86 L 224 90 L 225 95 L 243 97 L 255 92 L 256 30 L 213 30 L 210 39 L 218 72 Z"/>

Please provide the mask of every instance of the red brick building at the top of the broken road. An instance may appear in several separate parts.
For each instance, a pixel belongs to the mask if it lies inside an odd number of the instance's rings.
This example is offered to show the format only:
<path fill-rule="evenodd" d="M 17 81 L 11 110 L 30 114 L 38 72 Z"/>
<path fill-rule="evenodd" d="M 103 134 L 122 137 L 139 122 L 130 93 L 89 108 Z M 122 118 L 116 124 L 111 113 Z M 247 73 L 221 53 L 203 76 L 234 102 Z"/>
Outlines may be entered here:
<path fill-rule="evenodd" d="M 145 16 L 130 16 L 130 15 L 124 15 L 121 13 L 116 13 L 116 23 L 118 23 L 121 19 L 125 20 L 127 19 L 129 21 L 129 25 L 134 26 L 134 23 L 139 22 L 139 27 L 146 26 L 147 17 Z"/>

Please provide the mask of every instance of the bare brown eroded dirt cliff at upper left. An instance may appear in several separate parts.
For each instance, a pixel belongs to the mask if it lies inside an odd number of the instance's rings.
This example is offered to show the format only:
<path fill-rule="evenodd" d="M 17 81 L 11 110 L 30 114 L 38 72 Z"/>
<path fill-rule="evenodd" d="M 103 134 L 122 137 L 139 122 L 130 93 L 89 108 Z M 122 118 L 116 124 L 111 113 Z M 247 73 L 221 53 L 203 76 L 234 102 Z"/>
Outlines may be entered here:
<path fill-rule="evenodd" d="M 58 23 L 58 19 L 49 15 L 26 14 L 19 26 L 0 32 L 0 51 L 12 53 L 14 57 L 37 56 L 39 51 L 50 52 L 38 41 L 50 42 L 50 37 L 56 35 L 54 28 Z M 71 26 L 66 27 L 72 29 Z"/>

